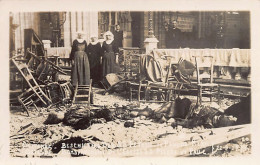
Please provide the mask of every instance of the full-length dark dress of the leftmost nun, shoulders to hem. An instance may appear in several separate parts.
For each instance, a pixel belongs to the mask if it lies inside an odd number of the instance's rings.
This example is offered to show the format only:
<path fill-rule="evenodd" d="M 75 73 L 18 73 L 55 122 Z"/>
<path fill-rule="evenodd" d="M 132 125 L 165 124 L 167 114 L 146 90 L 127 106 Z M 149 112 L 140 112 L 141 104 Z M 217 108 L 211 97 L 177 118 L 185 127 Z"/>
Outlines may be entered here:
<path fill-rule="evenodd" d="M 87 42 L 79 43 L 78 40 L 73 41 L 70 59 L 74 60 L 71 68 L 72 85 L 89 85 L 90 68 L 87 55 Z"/>

